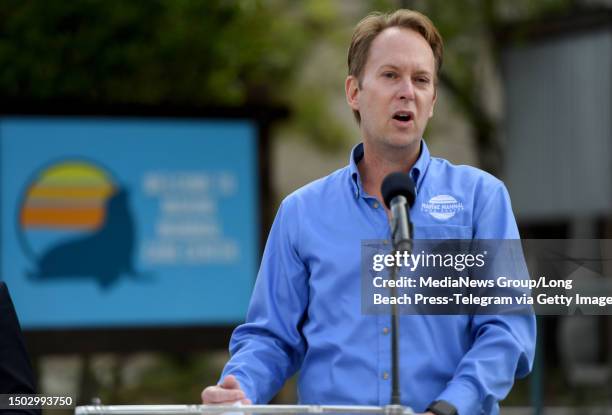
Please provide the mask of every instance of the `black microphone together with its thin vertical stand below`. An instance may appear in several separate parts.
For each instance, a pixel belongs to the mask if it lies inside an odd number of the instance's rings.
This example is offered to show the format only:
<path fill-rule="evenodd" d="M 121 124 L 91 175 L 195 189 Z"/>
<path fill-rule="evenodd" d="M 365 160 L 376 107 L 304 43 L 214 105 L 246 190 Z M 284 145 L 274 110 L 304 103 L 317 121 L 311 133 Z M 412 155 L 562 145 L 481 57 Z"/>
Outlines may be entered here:
<path fill-rule="evenodd" d="M 412 223 L 410 208 L 416 194 L 414 181 L 408 173 L 396 172 L 385 177 L 380 188 L 385 205 L 391 211 L 391 237 L 396 252 L 412 251 Z M 397 280 L 397 266 L 392 269 Z M 397 295 L 397 287 L 391 286 L 391 296 Z M 397 304 L 391 304 L 391 405 L 400 408 L 399 386 L 399 313 Z"/>

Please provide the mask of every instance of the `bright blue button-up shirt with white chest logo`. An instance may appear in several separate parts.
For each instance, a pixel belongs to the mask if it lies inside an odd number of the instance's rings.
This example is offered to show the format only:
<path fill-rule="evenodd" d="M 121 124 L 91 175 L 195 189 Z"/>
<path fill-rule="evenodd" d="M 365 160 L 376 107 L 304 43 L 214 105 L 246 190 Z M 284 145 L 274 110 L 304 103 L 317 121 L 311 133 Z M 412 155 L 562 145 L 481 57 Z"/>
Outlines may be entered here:
<path fill-rule="evenodd" d="M 360 298 L 361 241 L 388 239 L 389 223 L 362 187 L 362 158 L 360 144 L 347 167 L 278 210 L 222 374 L 234 374 L 254 403 L 267 403 L 298 370 L 300 403 L 390 402 L 391 317 L 362 314 Z M 519 238 L 508 192 L 493 176 L 431 157 L 424 141 L 410 174 L 415 238 Z M 460 415 L 498 413 L 533 361 L 529 315 L 404 315 L 399 333 L 402 404 L 417 412 L 443 399 Z"/>

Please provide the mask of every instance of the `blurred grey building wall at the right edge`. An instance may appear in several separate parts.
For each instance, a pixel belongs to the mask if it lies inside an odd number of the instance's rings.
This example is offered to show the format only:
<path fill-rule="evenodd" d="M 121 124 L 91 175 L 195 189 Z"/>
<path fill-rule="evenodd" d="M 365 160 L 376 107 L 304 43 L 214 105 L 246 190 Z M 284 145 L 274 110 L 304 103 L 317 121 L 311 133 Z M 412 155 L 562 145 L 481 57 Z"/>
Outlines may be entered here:
<path fill-rule="evenodd" d="M 566 34 L 503 54 L 506 178 L 525 220 L 612 210 L 612 31 Z"/>

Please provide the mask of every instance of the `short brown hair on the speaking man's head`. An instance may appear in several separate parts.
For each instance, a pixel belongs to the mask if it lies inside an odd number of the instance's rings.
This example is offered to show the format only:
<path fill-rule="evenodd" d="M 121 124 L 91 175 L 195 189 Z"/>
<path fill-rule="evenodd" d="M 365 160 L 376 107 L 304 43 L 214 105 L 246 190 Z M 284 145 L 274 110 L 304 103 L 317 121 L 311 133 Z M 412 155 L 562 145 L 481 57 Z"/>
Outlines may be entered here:
<path fill-rule="evenodd" d="M 390 27 L 411 29 L 425 38 L 434 54 L 434 59 L 436 61 L 435 75 L 437 79 L 437 74 L 442 67 L 442 54 L 444 51 L 442 36 L 440 36 L 438 29 L 436 29 L 427 16 L 408 9 L 399 9 L 393 13 L 370 13 L 355 26 L 348 52 L 349 75 L 357 78 L 361 85 L 363 68 L 368 60 L 372 41 L 383 30 Z M 359 115 L 359 111 L 353 111 L 353 113 L 355 114 L 357 122 L 360 122 L 361 116 Z"/>

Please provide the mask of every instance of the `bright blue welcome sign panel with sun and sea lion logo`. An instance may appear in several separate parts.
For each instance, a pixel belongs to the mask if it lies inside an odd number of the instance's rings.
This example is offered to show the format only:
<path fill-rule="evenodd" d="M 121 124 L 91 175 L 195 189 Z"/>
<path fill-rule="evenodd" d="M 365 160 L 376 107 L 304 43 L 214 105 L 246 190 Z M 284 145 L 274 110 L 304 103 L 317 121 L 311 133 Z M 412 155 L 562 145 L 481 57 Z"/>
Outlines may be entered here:
<path fill-rule="evenodd" d="M 257 144 L 249 120 L 0 117 L 0 279 L 22 328 L 242 321 Z"/>

